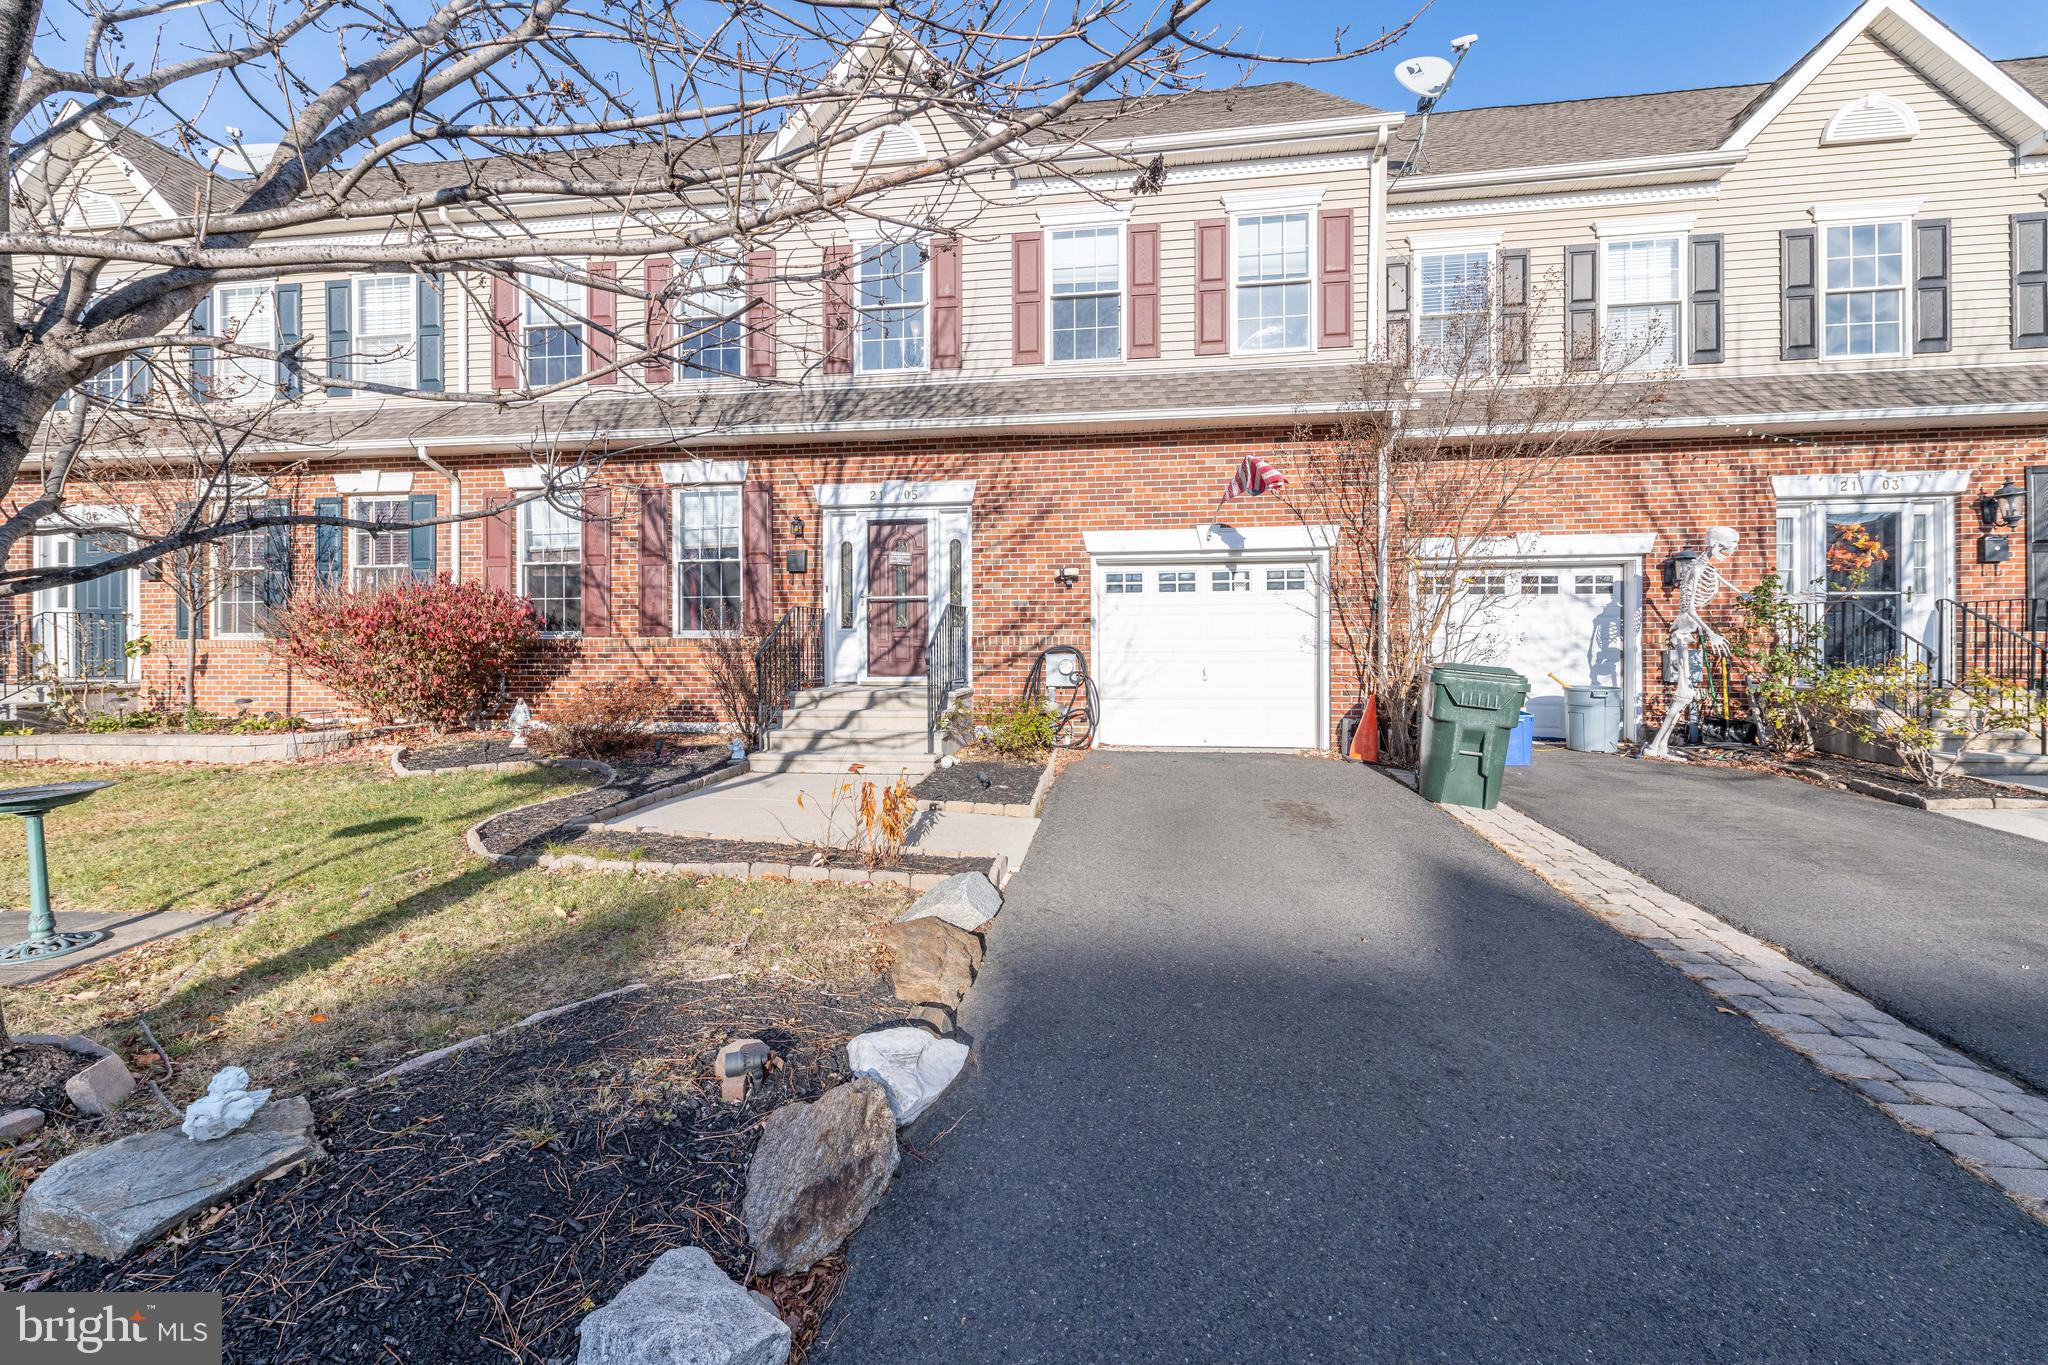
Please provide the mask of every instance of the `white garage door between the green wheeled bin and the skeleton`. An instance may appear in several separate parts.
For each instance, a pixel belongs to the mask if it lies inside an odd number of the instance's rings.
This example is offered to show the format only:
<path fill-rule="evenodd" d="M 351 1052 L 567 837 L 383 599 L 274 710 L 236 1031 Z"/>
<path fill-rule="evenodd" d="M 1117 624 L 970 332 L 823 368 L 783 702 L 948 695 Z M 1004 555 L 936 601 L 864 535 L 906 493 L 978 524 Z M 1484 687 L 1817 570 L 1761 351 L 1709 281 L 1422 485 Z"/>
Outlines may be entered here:
<path fill-rule="evenodd" d="M 1622 686 L 1622 583 L 1620 565 L 1479 569 L 1460 585 L 1446 653 L 1528 677 L 1536 735 L 1563 739 L 1565 688 L 1552 673 L 1575 688 Z"/>

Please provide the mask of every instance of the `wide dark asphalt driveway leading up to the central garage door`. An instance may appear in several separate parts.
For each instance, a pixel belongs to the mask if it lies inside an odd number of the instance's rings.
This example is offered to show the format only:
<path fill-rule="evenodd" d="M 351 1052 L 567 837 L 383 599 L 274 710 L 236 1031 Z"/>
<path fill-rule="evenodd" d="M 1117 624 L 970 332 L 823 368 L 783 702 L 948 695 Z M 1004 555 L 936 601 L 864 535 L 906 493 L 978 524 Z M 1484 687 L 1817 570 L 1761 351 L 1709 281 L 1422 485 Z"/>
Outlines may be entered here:
<path fill-rule="evenodd" d="M 831 1365 L 2042 1359 L 2048 1228 L 1356 765 L 1096 753 Z"/>

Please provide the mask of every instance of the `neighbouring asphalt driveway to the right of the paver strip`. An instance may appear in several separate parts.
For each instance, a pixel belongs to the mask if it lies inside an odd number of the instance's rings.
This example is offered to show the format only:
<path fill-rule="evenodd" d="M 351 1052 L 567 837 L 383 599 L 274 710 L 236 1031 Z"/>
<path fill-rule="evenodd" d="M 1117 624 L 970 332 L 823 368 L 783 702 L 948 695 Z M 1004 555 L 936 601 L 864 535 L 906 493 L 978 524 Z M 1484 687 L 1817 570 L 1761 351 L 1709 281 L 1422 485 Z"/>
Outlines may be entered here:
<path fill-rule="evenodd" d="M 1792 778 L 1544 749 L 1507 804 L 2048 1089 L 2048 847 Z"/>

